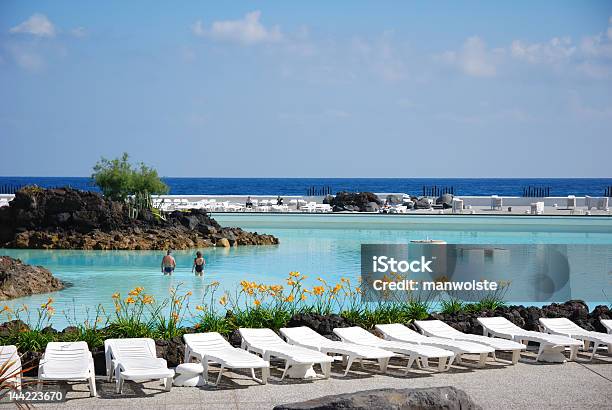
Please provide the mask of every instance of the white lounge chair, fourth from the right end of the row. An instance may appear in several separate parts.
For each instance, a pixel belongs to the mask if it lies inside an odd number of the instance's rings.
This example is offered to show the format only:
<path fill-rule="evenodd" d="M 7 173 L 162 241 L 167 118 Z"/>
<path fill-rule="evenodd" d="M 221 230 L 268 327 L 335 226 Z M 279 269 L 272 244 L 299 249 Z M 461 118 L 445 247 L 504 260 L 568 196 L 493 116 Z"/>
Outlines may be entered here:
<path fill-rule="evenodd" d="M 464 354 L 477 354 L 479 355 L 478 366 L 482 367 L 485 365 L 489 353 L 495 353 L 495 349 L 490 346 L 475 342 L 428 337 L 409 329 L 401 323 L 376 325 L 376 330 L 378 330 L 386 340 L 416 343 L 419 345 L 434 346 L 440 349 L 450 350 L 455 354 L 456 363 L 461 363 L 461 356 Z"/>

